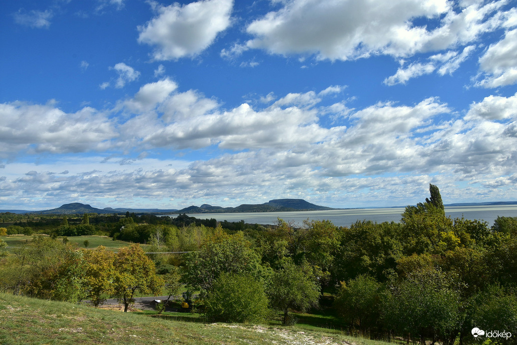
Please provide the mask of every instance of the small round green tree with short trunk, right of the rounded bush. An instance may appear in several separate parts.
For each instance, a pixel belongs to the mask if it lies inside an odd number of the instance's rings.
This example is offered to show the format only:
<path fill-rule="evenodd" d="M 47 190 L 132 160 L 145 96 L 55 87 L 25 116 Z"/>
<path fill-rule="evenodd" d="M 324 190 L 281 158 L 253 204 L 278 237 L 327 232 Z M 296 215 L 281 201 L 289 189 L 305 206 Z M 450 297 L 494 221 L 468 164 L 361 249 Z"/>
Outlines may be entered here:
<path fill-rule="evenodd" d="M 292 260 L 284 259 L 269 281 L 268 296 L 271 307 L 282 311 L 282 324 L 290 323 L 289 311 L 307 310 L 317 305 L 320 286 Z"/>

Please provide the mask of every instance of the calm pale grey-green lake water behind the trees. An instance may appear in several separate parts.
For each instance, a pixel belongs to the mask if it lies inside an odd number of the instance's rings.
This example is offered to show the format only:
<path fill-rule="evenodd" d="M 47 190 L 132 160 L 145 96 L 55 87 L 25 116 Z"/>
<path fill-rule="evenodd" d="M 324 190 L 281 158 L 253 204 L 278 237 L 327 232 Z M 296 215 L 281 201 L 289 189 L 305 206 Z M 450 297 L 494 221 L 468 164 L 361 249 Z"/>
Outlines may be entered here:
<path fill-rule="evenodd" d="M 377 223 L 400 222 L 401 208 L 367 208 L 367 209 L 346 209 L 346 210 L 326 210 L 326 211 L 301 211 L 301 212 L 244 212 L 244 213 L 201 213 L 189 216 L 209 219 L 215 218 L 218 221 L 227 220 L 238 222 L 244 220 L 251 224 L 275 224 L 277 218 L 285 221 L 294 221 L 301 225 L 303 220 L 330 220 L 337 226 L 349 226 L 357 220 L 371 220 Z M 497 206 L 454 206 L 446 207 L 445 213 L 452 219 L 478 219 L 484 220 L 492 226 L 497 216 L 517 217 L 517 205 L 497 205 Z M 173 217 L 173 216 L 171 216 Z"/>

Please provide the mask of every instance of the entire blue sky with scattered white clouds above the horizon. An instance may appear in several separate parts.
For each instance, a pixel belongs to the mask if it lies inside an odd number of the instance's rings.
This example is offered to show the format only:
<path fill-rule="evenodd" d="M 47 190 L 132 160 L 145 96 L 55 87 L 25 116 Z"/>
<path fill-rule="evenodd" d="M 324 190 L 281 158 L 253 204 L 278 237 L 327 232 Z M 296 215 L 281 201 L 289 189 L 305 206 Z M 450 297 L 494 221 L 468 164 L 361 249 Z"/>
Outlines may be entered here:
<path fill-rule="evenodd" d="M 517 1 L 0 3 L 0 209 L 517 200 Z"/>

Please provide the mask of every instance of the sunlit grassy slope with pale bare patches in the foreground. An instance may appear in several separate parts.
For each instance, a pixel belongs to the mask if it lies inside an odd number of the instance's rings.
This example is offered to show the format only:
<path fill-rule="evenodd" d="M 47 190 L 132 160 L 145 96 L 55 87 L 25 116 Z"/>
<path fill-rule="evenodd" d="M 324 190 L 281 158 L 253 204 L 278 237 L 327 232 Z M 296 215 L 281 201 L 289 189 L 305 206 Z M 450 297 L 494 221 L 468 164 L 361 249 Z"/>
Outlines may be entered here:
<path fill-rule="evenodd" d="M 388 344 L 349 337 L 323 328 L 304 330 L 271 325 L 206 324 L 199 318 L 187 320 L 190 315 L 187 313 L 174 314 L 181 315 L 170 315 L 168 320 L 152 317 L 151 312 L 121 313 L 0 293 L 0 343 Z"/>

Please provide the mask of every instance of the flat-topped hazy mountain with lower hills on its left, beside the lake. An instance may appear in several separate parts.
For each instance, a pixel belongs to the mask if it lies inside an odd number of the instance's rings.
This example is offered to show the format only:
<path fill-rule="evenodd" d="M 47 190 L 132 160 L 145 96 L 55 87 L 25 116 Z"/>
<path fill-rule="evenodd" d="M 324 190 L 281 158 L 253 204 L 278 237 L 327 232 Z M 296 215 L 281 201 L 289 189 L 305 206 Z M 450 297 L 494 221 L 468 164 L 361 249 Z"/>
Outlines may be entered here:
<path fill-rule="evenodd" d="M 302 199 L 276 199 L 264 204 L 242 204 L 237 207 L 220 207 L 208 204 L 189 206 L 175 213 L 228 213 L 228 212 L 288 212 L 330 210 L 331 207 L 311 204 Z"/>

